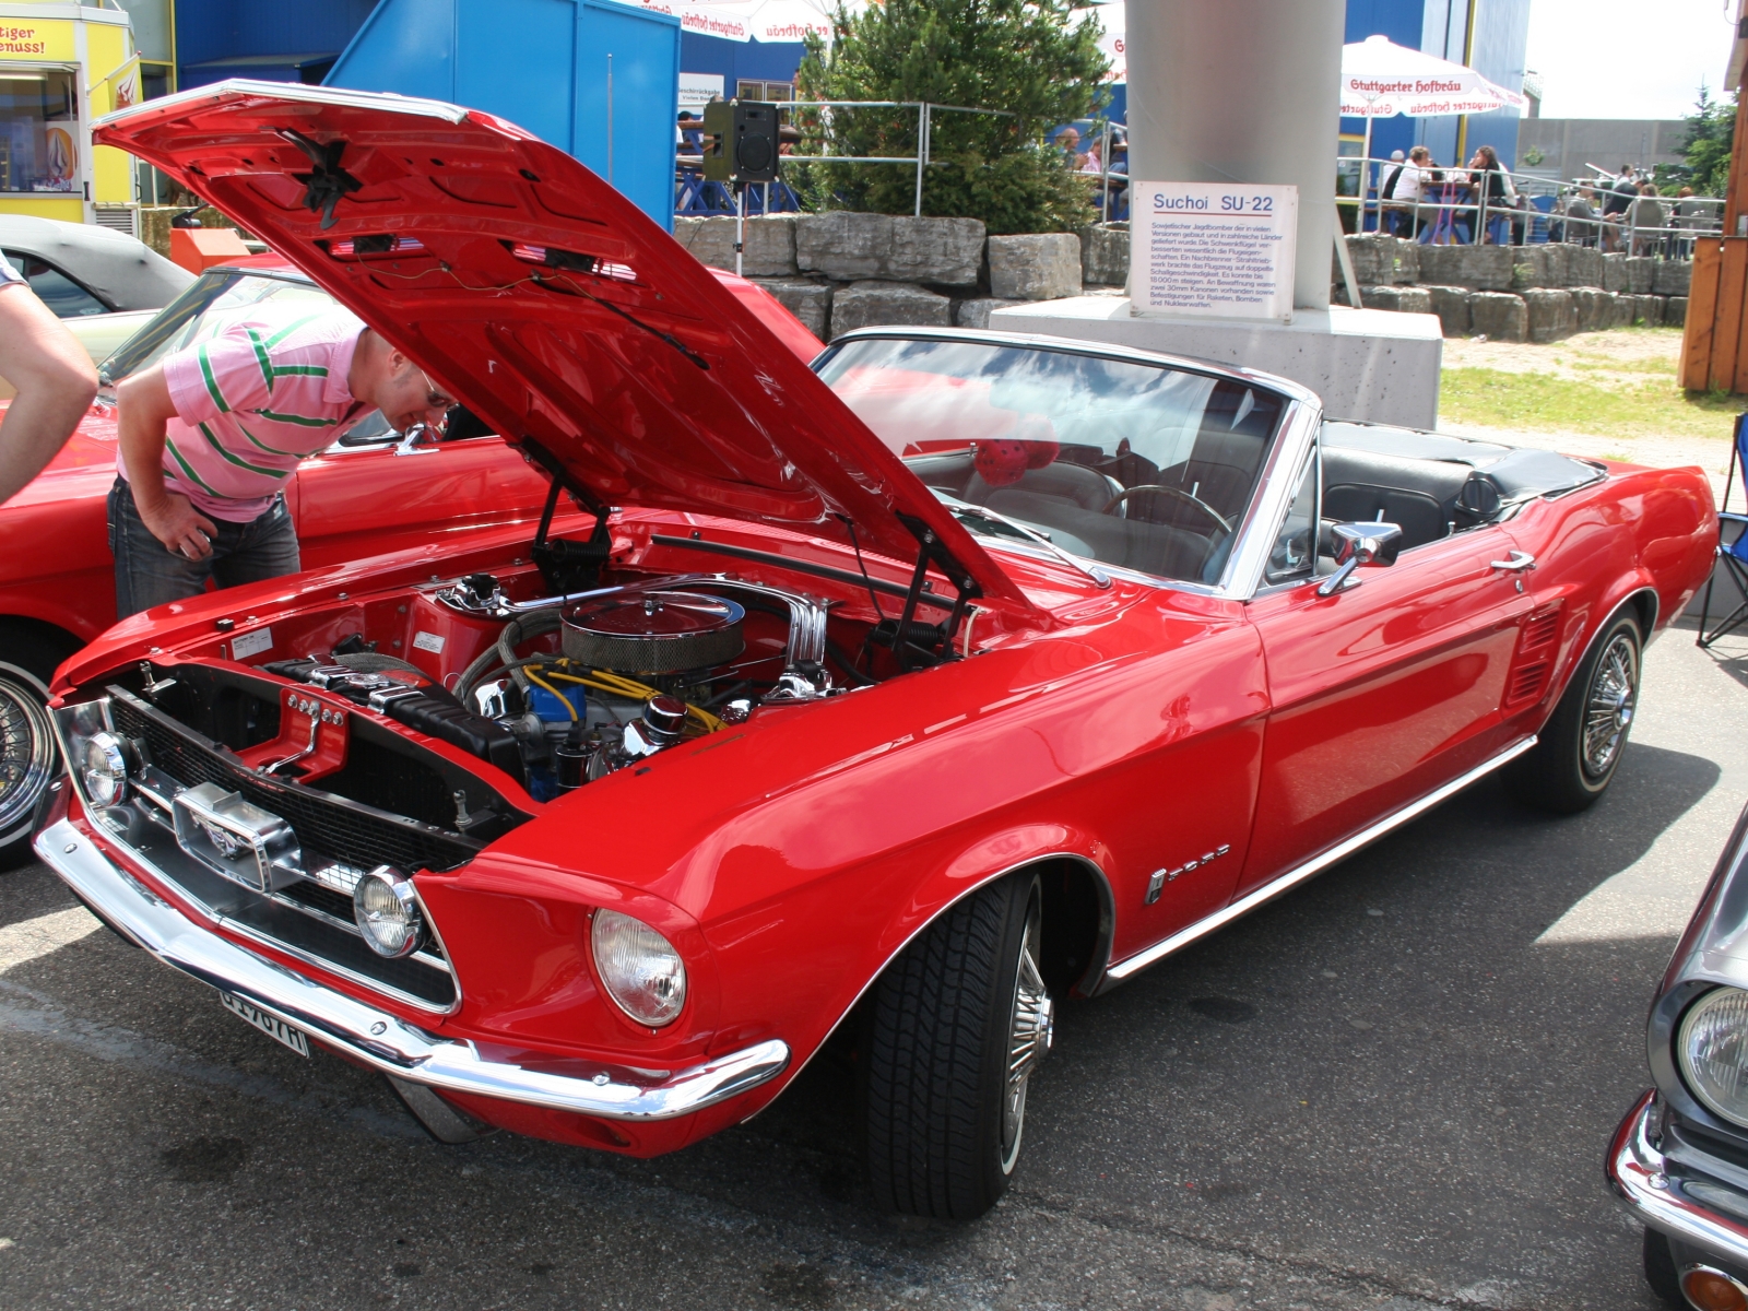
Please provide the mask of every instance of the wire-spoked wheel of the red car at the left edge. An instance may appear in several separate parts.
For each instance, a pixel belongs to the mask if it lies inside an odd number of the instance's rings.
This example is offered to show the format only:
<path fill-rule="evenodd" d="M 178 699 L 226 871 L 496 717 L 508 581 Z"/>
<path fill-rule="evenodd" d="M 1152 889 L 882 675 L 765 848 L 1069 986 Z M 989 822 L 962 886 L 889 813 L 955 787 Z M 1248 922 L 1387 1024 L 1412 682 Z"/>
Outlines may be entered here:
<path fill-rule="evenodd" d="M 49 724 L 49 680 L 79 650 L 72 638 L 0 626 L 0 871 L 35 858 L 30 832 L 37 802 L 61 773 Z"/>

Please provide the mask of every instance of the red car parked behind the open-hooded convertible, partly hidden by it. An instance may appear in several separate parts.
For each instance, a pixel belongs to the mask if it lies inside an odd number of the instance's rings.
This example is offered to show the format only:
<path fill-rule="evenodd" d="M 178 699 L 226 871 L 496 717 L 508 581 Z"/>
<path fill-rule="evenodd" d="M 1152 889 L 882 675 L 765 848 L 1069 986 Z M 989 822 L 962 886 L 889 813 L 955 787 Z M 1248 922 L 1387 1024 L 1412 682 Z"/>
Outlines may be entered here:
<path fill-rule="evenodd" d="M 762 287 L 711 273 L 802 360 L 825 350 Z M 54 666 L 115 622 L 103 503 L 115 479 L 112 388 L 262 301 L 332 304 L 276 255 L 208 269 L 103 362 L 105 390 L 72 440 L 0 509 L 0 869 L 30 858 L 31 815 L 56 773 L 44 713 Z M 402 435 L 372 414 L 306 460 L 287 482 L 285 500 L 302 561 L 316 568 L 531 523 L 545 491 L 545 479 L 521 453 L 470 420 L 456 416 L 442 434 Z"/>

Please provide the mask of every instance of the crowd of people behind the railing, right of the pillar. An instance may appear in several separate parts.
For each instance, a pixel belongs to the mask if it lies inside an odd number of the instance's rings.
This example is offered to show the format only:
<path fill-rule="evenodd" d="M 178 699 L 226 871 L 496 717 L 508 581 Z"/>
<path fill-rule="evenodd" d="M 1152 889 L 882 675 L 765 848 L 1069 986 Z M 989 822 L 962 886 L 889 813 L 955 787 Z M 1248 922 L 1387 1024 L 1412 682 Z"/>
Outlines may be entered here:
<path fill-rule="evenodd" d="M 1491 145 L 1463 168 L 1440 168 L 1425 145 L 1393 152 L 1377 182 L 1379 231 L 1418 241 L 1524 245 L 1533 205 Z M 1549 241 L 1605 252 L 1687 259 L 1694 238 L 1717 224 L 1715 206 L 1682 187 L 1659 196 L 1645 170 L 1622 164 L 1613 177 L 1566 187 L 1549 212 Z"/>

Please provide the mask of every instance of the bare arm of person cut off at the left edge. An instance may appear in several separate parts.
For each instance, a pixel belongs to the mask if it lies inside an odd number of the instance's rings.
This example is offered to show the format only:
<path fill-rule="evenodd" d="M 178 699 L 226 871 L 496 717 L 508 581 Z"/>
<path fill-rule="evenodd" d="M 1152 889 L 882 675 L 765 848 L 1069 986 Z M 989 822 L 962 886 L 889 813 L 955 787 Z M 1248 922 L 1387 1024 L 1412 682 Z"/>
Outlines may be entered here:
<path fill-rule="evenodd" d="M 0 378 L 17 390 L 0 425 L 5 505 L 73 435 L 98 393 L 98 371 L 30 287 L 7 283 L 0 285 Z"/>

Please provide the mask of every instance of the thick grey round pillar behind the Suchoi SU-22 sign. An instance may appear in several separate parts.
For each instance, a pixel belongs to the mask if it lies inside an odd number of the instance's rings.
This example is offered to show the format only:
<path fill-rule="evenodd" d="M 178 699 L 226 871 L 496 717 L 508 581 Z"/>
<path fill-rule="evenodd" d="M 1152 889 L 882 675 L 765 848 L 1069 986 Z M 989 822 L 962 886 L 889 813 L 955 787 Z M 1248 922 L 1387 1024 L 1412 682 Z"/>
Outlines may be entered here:
<path fill-rule="evenodd" d="M 1127 0 L 1129 177 L 1299 187 L 1294 304 L 1328 308 L 1344 0 Z"/>

